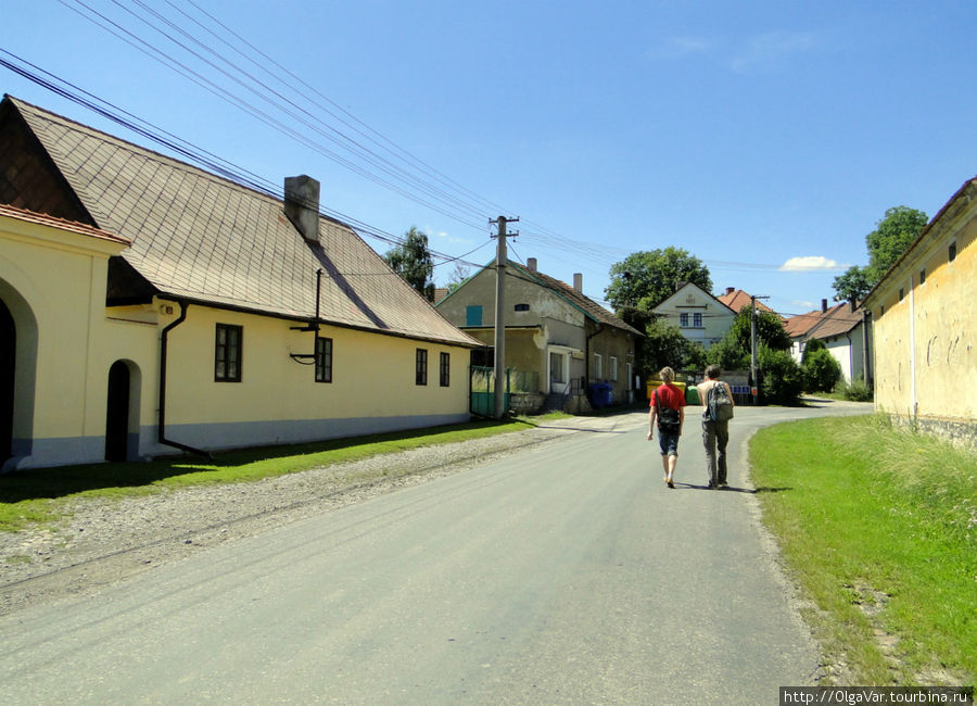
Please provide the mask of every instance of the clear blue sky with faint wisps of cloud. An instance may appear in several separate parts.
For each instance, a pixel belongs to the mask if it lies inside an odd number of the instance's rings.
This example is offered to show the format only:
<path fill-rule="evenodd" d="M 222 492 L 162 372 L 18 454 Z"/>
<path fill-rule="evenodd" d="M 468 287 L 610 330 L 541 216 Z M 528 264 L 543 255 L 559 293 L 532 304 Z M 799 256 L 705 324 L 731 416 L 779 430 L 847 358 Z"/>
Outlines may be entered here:
<path fill-rule="evenodd" d="M 510 257 L 583 273 L 597 300 L 613 263 L 675 245 L 713 293 L 803 313 L 867 262 L 887 209 L 931 217 L 977 174 L 972 0 L 84 2 L 8 3 L 0 59 L 274 185 L 314 176 L 327 209 L 394 236 L 417 226 L 445 255 L 488 262 L 488 219 L 519 216 Z M 148 144 L 2 67 L 0 91 Z"/>

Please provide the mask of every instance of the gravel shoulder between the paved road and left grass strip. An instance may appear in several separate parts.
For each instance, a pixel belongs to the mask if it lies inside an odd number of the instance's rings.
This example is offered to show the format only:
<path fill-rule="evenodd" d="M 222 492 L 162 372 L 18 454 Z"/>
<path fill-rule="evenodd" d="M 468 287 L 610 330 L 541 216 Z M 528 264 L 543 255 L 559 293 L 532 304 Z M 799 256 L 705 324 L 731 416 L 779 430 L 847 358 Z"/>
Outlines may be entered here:
<path fill-rule="evenodd" d="M 645 424 L 643 412 L 573 417 L 486 439 L 427 446 L 255 482 L 79 499 L 53 526 L 0 532 L 0 615 L 87 594 L 223 542 L 578 433 Z"/>

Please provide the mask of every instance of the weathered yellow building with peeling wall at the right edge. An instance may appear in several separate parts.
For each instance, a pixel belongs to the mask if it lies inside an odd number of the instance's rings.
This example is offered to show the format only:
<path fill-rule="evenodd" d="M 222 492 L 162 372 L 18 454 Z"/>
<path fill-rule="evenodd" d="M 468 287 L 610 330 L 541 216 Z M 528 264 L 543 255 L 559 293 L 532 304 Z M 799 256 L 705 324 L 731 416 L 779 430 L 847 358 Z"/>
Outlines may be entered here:
<path fill-rule="evenodd" d="M 977 439 L 977 178 L 966 181 L 863 302 L 875 405 L 892 418 Z"/>

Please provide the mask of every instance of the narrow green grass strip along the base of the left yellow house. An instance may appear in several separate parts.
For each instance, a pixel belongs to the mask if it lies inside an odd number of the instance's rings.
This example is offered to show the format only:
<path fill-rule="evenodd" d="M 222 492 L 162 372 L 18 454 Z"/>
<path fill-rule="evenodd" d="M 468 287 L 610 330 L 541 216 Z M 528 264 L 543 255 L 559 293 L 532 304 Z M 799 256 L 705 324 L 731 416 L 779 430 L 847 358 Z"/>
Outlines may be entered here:
<path fill-rule="evenodd" d="M 378 454 L 522 431 L 560 416 L 566 415 L 244 449 L 215 453 L 213 461 L 180 456 L 150 463 L 62 466 L 8 474 L 0 476 L 0 531 L 53 522 L 63 517 L 68 501 L 79 497 L 124 497 L 201 483 L 255 481 Z"/>

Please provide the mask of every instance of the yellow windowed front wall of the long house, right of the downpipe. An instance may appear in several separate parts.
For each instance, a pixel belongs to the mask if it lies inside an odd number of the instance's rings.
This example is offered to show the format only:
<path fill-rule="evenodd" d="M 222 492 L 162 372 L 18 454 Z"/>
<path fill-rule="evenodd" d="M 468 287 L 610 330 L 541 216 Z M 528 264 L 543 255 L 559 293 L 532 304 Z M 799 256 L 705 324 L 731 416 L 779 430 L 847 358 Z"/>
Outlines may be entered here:
<path fill-rule="evenodd" d="M 178 313 L 178 312 L 176 312 Z M 161 318 L 161 326 L 176 313 Z M 240 382 L 214 379 L 216 325 L 242 327 Z M 312 354 L 314 333 L 295 322 L 191 304 L 169 333 L 167 425 L 300 419 L 423 417 L 468 411 L 468 350 L 322 326 L 333 343 L 332 382 L 290 353 Z M 417 349 L 428 351 L 428 383 L 415 383 Z M 448 353 L 449 387 L 440 384 L 440 354 Z"/>

